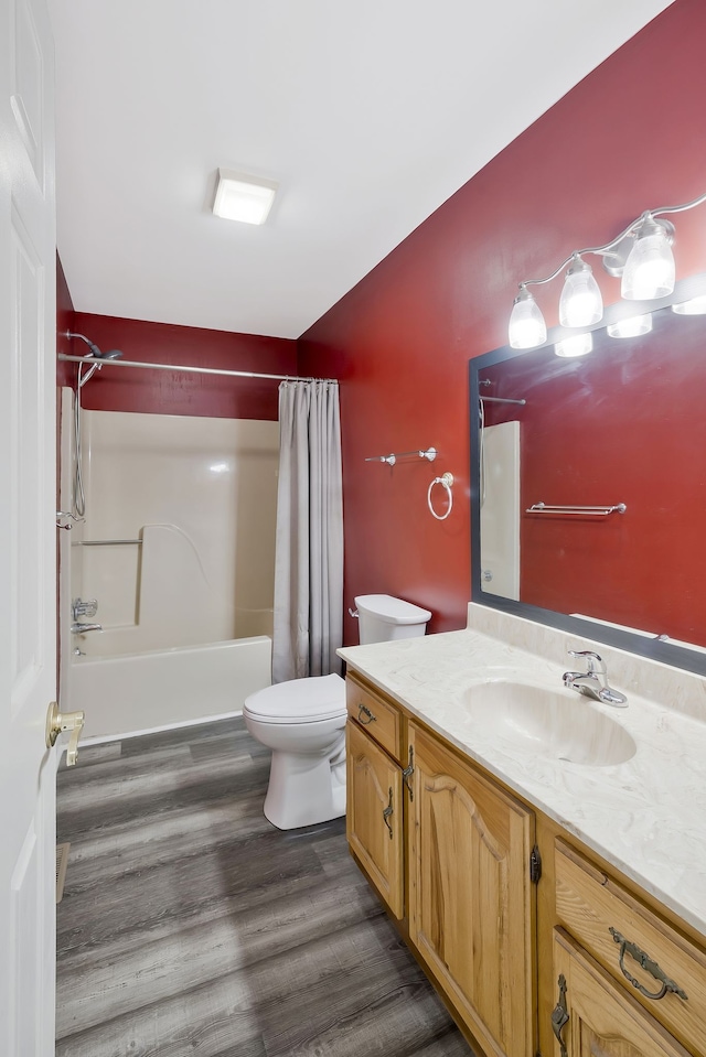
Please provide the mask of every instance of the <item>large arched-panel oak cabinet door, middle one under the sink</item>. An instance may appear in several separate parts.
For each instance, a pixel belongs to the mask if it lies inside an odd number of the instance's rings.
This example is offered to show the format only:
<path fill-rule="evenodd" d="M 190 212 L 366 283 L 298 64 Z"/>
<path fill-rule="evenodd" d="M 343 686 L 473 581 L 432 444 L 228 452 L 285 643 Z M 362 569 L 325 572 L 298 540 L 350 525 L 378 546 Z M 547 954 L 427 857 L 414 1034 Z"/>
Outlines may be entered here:
<path fill-rule="evenodd" d="M 410 938 L 485 1051 L 528 1057 L 534 817 L 414 723 L 409 744 Z"/>

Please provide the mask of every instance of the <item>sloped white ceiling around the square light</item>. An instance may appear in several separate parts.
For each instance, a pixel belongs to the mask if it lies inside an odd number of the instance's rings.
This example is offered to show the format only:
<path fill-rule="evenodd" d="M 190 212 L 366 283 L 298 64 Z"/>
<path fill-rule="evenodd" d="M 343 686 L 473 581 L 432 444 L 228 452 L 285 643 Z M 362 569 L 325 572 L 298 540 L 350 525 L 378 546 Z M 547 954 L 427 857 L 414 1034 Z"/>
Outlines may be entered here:
<path fill-rule="evenodd" d="M 298 337 L 671 0 L 49 2 L 75 308 Z"/>

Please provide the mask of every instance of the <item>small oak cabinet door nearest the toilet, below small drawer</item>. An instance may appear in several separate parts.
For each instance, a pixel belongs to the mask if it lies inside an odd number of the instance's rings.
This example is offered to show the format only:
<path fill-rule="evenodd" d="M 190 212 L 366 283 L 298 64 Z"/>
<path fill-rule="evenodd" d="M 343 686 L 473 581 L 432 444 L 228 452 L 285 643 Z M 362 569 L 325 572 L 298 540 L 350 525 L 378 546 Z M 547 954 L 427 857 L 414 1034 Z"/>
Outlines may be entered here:
<path fill-rule="evenodd" d="M 349 844 L 391 912 L 402 918 L 402 769 L 351 720 L 346 766 Z"/>

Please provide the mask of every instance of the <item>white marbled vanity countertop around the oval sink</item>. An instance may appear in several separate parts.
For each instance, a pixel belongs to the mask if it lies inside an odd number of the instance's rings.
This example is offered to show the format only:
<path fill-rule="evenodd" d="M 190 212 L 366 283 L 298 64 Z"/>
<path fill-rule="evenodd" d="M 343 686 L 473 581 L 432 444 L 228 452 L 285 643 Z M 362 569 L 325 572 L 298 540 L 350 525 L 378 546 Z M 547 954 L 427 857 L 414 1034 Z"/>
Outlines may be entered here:
<path fill-rule="evenodd" d="M 579 665 L 561 667 L 471 629 L 345 647 L 339 654 L 706 937 L 706 723 L 700 719 L 649 701 L 613 678 L 610 684 L 628 695 L 628 708 L 579 698 L 561 683 L 563 672 Z M 595 766 L 513 747 L 472 720 L 463 705 L 463 691 L 472 683 L 503 677 L 556 690 L 566 695 L 567 709 L 578 700 L 581 708 L 607 713 L 632 735 L 635 754 L 622 764 Z"/>

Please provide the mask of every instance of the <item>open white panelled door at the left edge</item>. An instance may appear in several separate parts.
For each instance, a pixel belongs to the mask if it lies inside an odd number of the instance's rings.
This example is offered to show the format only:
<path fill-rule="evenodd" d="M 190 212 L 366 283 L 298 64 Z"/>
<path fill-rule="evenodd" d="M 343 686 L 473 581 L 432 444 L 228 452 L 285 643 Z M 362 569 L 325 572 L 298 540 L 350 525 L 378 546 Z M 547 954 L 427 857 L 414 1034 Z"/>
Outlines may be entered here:
<path fill-rule="evenodd" d="M 0 1054 L 54 1053 L 56 684 L 53 51 L 0 0 Z"/>

